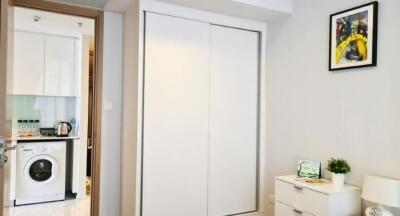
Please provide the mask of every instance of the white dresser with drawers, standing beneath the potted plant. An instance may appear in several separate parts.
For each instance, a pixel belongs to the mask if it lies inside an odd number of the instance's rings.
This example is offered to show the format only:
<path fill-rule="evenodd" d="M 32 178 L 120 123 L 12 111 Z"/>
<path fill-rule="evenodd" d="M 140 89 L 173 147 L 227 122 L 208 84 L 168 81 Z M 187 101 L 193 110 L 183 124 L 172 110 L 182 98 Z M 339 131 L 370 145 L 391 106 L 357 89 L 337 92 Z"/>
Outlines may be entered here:
<path fill-rule="evenodd" d="M 309 184 L 295 175 L 275 178 L 275 216 L 359 216 L 361 188 Z"/>

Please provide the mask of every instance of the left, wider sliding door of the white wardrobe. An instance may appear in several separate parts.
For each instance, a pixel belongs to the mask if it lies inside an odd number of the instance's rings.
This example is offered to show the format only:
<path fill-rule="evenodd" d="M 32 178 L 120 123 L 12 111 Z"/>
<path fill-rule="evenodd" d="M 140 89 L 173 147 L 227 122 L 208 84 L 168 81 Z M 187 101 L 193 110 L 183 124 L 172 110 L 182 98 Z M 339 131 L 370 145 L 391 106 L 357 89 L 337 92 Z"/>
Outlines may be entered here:
<path fill-rule="evenodd" d="M 143 216 L 206 216 L 210 25 L 145 15 Z"/>

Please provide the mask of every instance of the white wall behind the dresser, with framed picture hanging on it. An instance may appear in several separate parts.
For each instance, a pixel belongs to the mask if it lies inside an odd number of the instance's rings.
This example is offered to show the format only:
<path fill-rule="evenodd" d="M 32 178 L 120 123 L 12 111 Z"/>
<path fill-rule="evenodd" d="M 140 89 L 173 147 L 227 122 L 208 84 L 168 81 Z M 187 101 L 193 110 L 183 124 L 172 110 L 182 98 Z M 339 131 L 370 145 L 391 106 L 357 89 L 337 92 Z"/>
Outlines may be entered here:
<path fill-rule="evenodd" d="M 380 1 L 378 67 L 328 71 L 329 15 L 366 2 L 296 0 L 291 17 L 269 23 L 269 193 L 299 158 L 343 157 L 356 185 L 366 174 L 400 178 L 400 1 Z"/>

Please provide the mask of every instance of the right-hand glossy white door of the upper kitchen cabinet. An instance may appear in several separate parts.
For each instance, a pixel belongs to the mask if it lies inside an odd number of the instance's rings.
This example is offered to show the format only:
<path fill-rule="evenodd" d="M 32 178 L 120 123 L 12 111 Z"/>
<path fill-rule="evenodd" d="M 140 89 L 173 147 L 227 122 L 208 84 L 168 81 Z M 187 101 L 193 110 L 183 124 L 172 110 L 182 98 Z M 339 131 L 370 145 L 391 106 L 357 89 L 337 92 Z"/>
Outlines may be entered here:
<path fill-rule="evenodd" d="M 44 95 L 75 96 L 75 39 L 46 35 L 45 47 Z"/>

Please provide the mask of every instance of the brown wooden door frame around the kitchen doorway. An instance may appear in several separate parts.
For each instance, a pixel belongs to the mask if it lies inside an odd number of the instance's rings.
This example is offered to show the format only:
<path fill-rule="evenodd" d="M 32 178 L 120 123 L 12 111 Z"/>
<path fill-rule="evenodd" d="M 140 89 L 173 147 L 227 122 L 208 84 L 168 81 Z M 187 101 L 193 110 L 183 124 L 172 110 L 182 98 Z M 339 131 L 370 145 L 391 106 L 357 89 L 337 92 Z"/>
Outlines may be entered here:
<path fill-rule="evenodd" d="M 3 1 L 3 0 L 1 0 Z M 102 111 L 102 81 L 103 81 L 103 29 L 104 12 L 75 5 L 67 5 L 46 0 L 8 0 L 11 6 L 39 9 L 60 14 L 91 18 L 95 20 L 95 70 L 94 79 L 94 111 L 93 111 L 93 150 L 92 150 L 92 191 L 91 216 L 99 216 L 100 204 L 100 157 L 101 157 L 101 111 Z M 5 72 L 5 71 L 4 71 Z M 0 197 L 2 198 L 2 197 Z"/>

